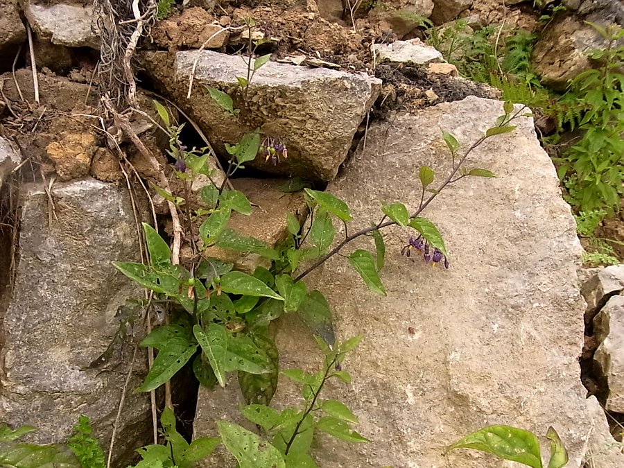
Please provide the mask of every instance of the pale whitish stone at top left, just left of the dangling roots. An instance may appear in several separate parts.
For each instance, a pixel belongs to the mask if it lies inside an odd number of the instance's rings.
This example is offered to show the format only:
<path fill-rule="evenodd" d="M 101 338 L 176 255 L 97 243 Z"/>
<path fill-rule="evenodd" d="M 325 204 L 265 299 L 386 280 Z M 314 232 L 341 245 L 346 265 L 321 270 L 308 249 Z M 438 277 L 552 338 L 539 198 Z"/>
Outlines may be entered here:
<path fill-rule="evenodd" d="M 24 5 L 24 15 L 35 32 L 50 39 L 52 44 L 100 48 L 100 38 L 92 30 L 92 6 L 28 1 Z"/>

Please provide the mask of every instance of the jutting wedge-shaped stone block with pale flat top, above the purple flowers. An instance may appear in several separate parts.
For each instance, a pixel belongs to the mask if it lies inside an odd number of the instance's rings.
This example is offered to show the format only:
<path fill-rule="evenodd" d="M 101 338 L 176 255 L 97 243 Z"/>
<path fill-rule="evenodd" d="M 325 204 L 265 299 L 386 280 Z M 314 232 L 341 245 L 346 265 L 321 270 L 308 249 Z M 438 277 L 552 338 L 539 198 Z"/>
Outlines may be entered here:
<path fill-rule="evenodd" d="M 257 158 L 254 165 L 316 180 L 336 177 L 358 125 L 381 89 L 381 80 L 363 73 L 270 62 L 254 74 L 247 96 L 250 104 L 236 117 L 221 109 L 205 87 L 236 92 L 236 77 L 247 76 L 241 57 L 212 51 L 177 52 L 175 57 L 155 52 L 147 53 L 144 62 L 158 87 L 175 98 L 211 140 L 221 141 L 221 148 L 223 142 L 235 144 L 245 132 L 259 127 L 263 135 L 283 141 L 288 159 L 274 166 Z"/>

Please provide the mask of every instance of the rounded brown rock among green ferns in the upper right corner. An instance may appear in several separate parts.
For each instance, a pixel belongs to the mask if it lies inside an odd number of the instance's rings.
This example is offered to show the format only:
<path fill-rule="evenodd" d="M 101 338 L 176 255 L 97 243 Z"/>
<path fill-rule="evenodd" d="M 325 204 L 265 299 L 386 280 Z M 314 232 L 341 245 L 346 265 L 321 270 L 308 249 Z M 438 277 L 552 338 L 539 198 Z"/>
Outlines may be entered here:
<path fill-rule="evenodd" d="M 542 83 L 564 89 L 569 80 L 591 68 L 586 53 L 606 46 L 594 28 L 569 16 L 546 28 L 535 44 L 532 62 Z"/>

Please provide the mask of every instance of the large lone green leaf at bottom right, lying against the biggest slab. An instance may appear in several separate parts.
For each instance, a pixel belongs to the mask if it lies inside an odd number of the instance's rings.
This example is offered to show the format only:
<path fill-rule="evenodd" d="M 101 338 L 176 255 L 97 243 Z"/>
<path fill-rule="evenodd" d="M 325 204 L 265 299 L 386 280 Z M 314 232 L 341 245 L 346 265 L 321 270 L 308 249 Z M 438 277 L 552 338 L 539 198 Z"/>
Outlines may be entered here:
<path fill-rule="evenodd" d="M 452 444 L 447 452 L 453 449 L 480 450 L 504 460 L 542 468 L 537 437 L 529 431 L 511 426 L 487 426 Z"/>

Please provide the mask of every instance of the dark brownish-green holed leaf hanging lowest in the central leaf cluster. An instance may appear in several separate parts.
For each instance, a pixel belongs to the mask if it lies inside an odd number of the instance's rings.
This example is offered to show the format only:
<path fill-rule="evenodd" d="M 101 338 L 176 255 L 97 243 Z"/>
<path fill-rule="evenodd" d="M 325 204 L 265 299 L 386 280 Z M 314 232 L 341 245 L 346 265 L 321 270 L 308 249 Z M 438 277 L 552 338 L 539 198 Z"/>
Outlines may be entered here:
<path fill-rule="evenodd" d="M 277 301 L 272 301 L 277 302 Z M 249 374 L 239 372 L 239 386 L 243 398 L 248 404 L 268 405 L 277 390 L 277 378 L 279 376 L 279 352 L 271 338 L 264 335 L 250 335 L 261 352 L 268 358 L 268 370 L 263 374 Z"/>

